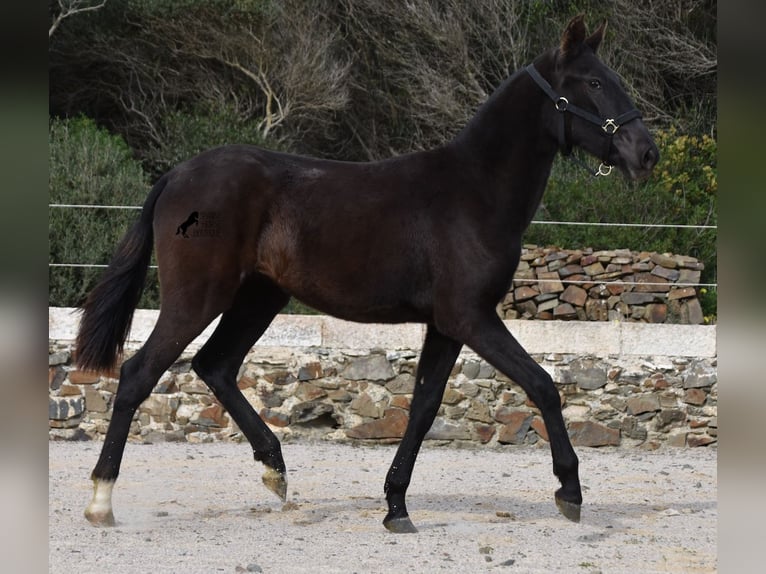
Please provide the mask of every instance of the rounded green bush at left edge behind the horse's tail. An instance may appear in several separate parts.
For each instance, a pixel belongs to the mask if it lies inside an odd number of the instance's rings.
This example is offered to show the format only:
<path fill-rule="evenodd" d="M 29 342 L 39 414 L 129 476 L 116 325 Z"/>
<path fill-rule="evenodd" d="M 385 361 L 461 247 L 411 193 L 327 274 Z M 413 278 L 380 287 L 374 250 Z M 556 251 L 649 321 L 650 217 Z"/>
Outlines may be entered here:
<path fill-rule="evenodd" d="M 141 205 L 146 175 L 120 136 L 85 117 L 53 119 L 49 125 L 48 193 L 51 203 Z M 107 264 L 137 210 L 50 208 L 50 263 Z M 102 269 L 50 267 L 48 304 L 80 305 Z M 150 271 L 142 305 L 156 305 L 156 273 Z"/>

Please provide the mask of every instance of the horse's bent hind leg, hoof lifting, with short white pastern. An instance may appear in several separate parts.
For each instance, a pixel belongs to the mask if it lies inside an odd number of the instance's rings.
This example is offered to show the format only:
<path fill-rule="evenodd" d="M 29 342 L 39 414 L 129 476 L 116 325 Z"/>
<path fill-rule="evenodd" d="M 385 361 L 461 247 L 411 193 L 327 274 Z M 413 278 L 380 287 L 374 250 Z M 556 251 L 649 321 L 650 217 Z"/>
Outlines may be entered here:
<path fill-rule="evenodd" d="M 282 500 L 287 495 L 285 463 L 279 439 L 237 387 L 245 355 L 285 306 L 289 295 L 262 276 L 253 276 L 237 292 L 234 304 L 192 360 L 192 367 L 242 430 L 256 460 L 266 465 L 263 483 Z"/>

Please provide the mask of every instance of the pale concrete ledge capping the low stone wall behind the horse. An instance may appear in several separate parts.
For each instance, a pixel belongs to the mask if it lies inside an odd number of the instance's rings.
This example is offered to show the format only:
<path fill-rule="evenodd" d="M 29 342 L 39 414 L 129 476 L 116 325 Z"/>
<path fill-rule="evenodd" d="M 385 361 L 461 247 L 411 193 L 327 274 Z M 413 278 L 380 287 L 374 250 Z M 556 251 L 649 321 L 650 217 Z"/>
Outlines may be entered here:
<path fill-rule="evenodd" d="M 159 312 L 136 310 L 128 347 L 140 346 L 151 333 Z M 48 309 L 48 338 L 72 341 L 80 317 L 75 309 Z M 190 347 L 212 334 L 217 320 Z M 531 354 L 562 353 L 593 356 L 715 357 L 716 326 L 586 321 L 505 321 Z M 278 315 L 258 341 L 262 347 L 419 350 L 425 327 L 419 324 L 380 325 L 341 321 L 324 315 Z"/>

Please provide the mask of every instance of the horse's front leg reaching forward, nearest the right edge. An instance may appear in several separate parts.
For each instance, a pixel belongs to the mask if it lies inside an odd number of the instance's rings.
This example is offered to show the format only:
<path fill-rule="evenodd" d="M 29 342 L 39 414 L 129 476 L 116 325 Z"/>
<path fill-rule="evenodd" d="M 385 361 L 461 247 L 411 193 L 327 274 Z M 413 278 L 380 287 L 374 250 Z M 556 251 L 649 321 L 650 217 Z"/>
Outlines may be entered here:
<path fill-rule="evenodd" d="M 582 491 L 578 473 L 579 461 L 567 434 L 561 414 L 561 399 L 550 375 L 529 356 L 508 332 L 494 312 L 476 313 L 465 333 L 451 333 L 471 347 L 479 356 L 515 381 L 537 405 L 548 431 L 553 457 L 553 473 L 561 482 L 555 500 L 559 511 L 569 520 L 580 521 Z"/>

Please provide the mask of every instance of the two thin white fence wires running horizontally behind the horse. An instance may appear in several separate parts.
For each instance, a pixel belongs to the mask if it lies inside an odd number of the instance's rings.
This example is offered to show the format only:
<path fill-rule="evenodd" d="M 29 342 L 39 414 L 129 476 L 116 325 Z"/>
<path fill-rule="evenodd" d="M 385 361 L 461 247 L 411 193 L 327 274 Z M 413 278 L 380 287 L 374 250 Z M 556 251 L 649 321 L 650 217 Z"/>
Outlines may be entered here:
<path fill-rule="evenodd" d="M 114 209 L 114 210 L 141 210 L 140 205 L 91 205 L 91 204 L 66 204 L 66 203 L 51 203 L 49 208 L 54 209 Z M 717 230 L 717 225 L 684 225 L 675 223 L 623 223 L 623 222 L 584 222 L 584 221 L 542 221 L 533 220 L 531 225 L 562 225 L 562 226 L 585 226 L 585 227 L 633 227 L 644 229 L 690 229 L 690 230 Z M 60 262 L 48 262 L 50 268 L 106 268 L 108 265 L 101 263 L 60 263 Z M 156 269 L 156 265 L 150 265 L 151 269 Z M 642 285 L 644 287 L 668 287 L 668 283 L 661 282 L 638 282 L 638 281 L 622 281 L 614 279 L 544 279 L 544 278 L 514 278 L 515 283 L 567 283 L 572 285 L 612 285 L 612 286 L 624 286 L 630 287 L 635 285 Z M 699 287 L 717 289 L 718 283 L 688 283 L 688 282 L 673 282 L 675 287 Z"/>

